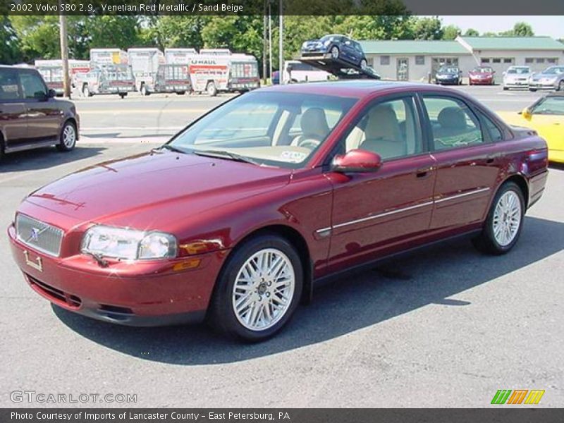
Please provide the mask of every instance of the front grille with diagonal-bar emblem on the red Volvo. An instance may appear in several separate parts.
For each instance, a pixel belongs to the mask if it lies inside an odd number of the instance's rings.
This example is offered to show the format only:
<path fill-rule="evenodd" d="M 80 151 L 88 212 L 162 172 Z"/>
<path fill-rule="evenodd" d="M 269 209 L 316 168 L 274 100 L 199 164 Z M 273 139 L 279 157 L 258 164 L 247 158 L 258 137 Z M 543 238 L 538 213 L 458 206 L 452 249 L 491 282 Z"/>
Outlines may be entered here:
<path fill-rule="evenodd" d="M 58 257 L 61 252 L 63 231 L 55 226 L 32 219 L 25 214 L 18 214 L 16 234 L 21 243 L 47 255 Z"/>

